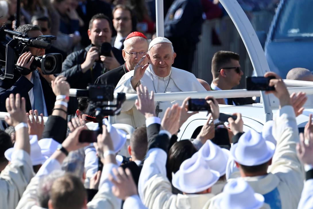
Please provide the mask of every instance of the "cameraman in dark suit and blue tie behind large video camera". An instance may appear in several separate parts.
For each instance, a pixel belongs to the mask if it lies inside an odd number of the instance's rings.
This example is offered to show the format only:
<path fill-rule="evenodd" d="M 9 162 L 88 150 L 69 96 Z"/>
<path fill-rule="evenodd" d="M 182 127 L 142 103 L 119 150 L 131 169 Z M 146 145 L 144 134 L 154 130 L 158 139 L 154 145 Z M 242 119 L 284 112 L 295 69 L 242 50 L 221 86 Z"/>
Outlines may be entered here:
<path fill-rule="evenodd" d="M 37 25 L 22 25 L 16 29 L 17 32 L 27 34 L 29 38 L 42 35 Z M 19 67 L 30 69 L 34 56 L 43 56 L 44 49 L 28 47 L 29 52 L 23 53 L 16 63 Z M 38 113 L 49 116 L 52 113 L 55 95 L 50 86 L 53 75 L 43 75 L 41 69 L 30 72 L 28 75 L 21 75 L 14 71 L 13 79 L 0 80 L 0 110 L 6 112 L 5 100 L 11 93 L 19 93 L 26 99 L 26 111 L 37 109 Z"/>

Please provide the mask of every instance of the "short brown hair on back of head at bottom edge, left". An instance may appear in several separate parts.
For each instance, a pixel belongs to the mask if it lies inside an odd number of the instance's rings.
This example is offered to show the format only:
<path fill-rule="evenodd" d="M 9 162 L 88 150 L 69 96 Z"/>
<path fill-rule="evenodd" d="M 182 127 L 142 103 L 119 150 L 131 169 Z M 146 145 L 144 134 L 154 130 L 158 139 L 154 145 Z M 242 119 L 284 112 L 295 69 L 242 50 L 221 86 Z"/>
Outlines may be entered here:
<path fill-rule="evenodd" d="M 65 174 L 52 184 L 50 200 L 53 208 L 82 208 L 86 198 L 87 192 L 82 181 L 74 175 Z"/>

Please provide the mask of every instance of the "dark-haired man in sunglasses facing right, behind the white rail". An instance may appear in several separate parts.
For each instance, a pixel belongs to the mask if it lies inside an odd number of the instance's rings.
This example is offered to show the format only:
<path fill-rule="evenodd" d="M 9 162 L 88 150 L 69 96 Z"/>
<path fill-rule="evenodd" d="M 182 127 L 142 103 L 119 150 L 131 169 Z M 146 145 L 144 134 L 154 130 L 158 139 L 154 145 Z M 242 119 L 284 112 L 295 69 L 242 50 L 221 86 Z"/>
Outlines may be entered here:
<path fill-rule="evenodd" d="M 211 71 L 213 81 L 211 89 L 231 90 L 240 84 L 244 73 L 239 64 L 239 55 L 231 51 L 218 51 L 212 59 Z M 255 103 L 251 97 L 247 98 L 224 98 L 227 105 L 246 105 Z"/>

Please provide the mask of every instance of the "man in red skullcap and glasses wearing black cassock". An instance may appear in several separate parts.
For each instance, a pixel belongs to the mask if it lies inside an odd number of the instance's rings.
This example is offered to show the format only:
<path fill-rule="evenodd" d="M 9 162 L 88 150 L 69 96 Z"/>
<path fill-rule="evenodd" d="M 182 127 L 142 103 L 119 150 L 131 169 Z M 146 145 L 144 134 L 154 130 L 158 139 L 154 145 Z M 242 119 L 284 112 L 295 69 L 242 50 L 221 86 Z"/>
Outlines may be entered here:
<path fill-rule="evenodd" d="M 124 49 L 122 50 L 124 65 L 119 66 L 105 74 L 101 75 L 95 81 L 95 84 L 113 85 L 116 87 L 122 76 L 127 72 L 134 70 L 141 58 L 147 54 L 150 41 L 140 32 L 132 32 L 124 41 Z M 144 61 L 144 65 L 148 63 L 148 59 Z"/>

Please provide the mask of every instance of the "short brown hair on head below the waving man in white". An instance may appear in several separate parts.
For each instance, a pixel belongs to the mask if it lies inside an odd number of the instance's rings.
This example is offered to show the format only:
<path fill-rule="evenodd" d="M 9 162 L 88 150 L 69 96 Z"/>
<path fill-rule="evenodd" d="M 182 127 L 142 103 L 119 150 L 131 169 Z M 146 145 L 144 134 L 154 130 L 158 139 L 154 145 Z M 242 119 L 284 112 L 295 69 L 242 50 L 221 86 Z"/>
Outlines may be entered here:
<path fill-rule="evenodd" d="M 130 139 L 131 151 L 136 159 L 143 160 L 148 149 L 148 138 L 146 125 L 136 128 L 131 134 Z"/>

